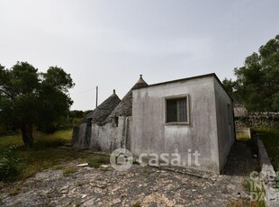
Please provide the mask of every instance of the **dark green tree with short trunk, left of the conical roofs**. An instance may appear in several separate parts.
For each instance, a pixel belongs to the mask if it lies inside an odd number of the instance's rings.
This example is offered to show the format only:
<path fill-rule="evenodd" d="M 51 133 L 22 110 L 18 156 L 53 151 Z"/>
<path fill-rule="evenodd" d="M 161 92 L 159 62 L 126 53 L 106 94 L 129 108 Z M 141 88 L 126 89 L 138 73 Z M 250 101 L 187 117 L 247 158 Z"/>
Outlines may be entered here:
<path fill-rule="evenodd" d="M 33 124 L 48 125 L 66 113 L 73 103 L 68 94 L 73 86 L 71 76 L 60 67 L 39 73 L 27 62 L 17 62 L 11 69 L 0 65 L 0 119 L 20 127 L 24 145 L 31 146 Z"/>

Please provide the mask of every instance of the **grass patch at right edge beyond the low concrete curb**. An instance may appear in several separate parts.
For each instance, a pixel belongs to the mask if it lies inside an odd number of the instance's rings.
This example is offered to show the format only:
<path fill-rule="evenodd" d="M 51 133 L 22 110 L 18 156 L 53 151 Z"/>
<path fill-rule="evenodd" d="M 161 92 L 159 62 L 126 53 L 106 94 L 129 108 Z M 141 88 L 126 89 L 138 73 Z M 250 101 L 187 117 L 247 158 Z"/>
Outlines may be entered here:
<path fill-rule="evenodd" d="M 254 130 L 259 132 L 275 171 L 279 171 L 279 128 L 257 127 Z"/>

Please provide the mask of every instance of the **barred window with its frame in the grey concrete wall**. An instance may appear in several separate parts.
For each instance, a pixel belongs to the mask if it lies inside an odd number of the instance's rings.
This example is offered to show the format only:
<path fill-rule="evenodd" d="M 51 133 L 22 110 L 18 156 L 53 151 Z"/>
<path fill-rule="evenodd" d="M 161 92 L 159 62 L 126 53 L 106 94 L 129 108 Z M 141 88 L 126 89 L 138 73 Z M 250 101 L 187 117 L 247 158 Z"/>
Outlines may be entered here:
<path fill-rule="evenodd" d="M 188 97 L 166 99 L 166 123 L 189 122 Z"/>

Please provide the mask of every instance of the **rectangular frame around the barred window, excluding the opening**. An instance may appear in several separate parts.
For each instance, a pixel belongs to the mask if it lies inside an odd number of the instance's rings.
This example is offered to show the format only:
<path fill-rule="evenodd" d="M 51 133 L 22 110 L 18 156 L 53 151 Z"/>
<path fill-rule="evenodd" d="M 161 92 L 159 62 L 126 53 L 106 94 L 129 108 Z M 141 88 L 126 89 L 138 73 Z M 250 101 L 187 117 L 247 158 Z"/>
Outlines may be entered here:
<path fill-rule="evenodd" d="M 166 112 L 166 101 L 168 100 L 178 100 L 178 99 L 186 99 L 186 112 L 187 112 L 187 121 L 171 121 L 167 122 L 167 112 Z M 190 95 L 189 94 L 179 94 L 179 95 L 172 95 L 172 96 L 166 96 L 164 97 L 164 103 L 165 103 L 165 112 L 164 112 L 164 122 L 165 125 L 190 125 Z"/>

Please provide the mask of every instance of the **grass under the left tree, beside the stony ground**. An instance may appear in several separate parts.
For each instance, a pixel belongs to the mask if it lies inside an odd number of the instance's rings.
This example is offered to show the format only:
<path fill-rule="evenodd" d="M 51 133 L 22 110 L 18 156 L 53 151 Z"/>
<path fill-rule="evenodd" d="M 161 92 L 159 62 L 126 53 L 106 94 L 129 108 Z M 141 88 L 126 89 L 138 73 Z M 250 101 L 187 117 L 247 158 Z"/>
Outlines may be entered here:
<path fill-rule="evenodd" d="M 58 148 L 70 143 L 71 137 L 72 130 L 59 130 L 51 135 L 34 132 L 31 148 L 24 148 L 20 135 L 0 137 L 0 182 L 25 179 L 42 169 L 60 168 L 60 165 L 76 158 L 93 167 L 109 163 L 106 155 Z"/>

